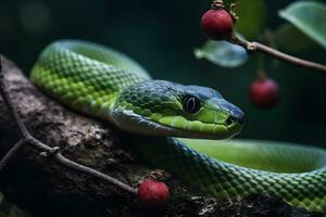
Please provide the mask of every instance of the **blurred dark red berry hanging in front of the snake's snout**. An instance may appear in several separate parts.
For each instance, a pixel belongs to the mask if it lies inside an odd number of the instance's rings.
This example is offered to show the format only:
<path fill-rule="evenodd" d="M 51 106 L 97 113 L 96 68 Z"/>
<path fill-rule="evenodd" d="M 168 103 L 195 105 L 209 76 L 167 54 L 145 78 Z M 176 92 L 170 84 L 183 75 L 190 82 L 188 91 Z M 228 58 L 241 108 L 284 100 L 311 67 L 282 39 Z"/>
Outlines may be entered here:
<path fill-rule="evenodd" d="M 273 107 L 279 99 L 277 82 L 271 78 L 255 80 L 250 87 L 250 99 L 260 108 Z"/>

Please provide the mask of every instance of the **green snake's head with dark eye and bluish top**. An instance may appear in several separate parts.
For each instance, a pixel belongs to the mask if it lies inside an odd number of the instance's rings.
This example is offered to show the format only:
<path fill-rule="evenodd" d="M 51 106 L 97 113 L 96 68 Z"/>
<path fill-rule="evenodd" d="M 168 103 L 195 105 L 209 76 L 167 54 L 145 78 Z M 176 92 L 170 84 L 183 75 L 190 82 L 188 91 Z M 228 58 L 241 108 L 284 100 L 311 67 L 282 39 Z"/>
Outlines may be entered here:
<path fill-rule="evenodd" d="M 238 135 L 244 114 L 218 91 L 149 80 L 122 91 L 112 117 L 123 130 L 164 137 L 227 139 Z"/>

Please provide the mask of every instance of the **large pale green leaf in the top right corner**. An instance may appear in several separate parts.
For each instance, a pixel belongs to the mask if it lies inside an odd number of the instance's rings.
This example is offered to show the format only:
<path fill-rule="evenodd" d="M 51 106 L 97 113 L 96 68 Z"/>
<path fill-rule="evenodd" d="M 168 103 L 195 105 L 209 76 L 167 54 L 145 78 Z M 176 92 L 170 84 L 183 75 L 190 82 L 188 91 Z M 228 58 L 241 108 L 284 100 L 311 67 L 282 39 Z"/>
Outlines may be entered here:
<path fill-rule="evenodd" d="M 326 4 L 317 1 L 298 1 L 278 14 L 326 49 Z"/>

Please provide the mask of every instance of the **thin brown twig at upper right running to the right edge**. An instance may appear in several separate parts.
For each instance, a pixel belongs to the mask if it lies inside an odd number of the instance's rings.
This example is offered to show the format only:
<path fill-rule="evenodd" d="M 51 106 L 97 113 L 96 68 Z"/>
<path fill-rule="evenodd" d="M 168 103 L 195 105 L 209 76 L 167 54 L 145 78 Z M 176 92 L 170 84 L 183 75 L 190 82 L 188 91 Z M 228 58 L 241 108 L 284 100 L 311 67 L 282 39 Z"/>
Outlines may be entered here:
<path fill-rule="evenodd" d="M 319 63 L 314 63 L 314 62 L 306 61 L 306 60 L 302 60 L 302 59 L 283 53 L 278 50 L 275 50 L 273 48 L 269 48 L 269 47 L 264 46 L 264 44 L 259 43 L 259 42 L 250 42 L 250 41 L 247 41 L 247 40 L 244 40 L 242 38 L 239 38 L 237 36 L 231 37 L 229 42 L 241 46 L 242 48 L 244 48 L 250 53 L 259 51 L 259 52 L 265 53 L 265 54 L 267 54 L 272 58 L 280 60 L 283 62 L 288 62 L 288 63 L 291 63 L 293 65 L 301 66 L 301 67 L 304 67 L 304 68 L 308 68 L 308 69 L 313 69 L 313 71 L 326 73 L 326 65 L 323 65 L 323 64 L 319 64 Z"/>

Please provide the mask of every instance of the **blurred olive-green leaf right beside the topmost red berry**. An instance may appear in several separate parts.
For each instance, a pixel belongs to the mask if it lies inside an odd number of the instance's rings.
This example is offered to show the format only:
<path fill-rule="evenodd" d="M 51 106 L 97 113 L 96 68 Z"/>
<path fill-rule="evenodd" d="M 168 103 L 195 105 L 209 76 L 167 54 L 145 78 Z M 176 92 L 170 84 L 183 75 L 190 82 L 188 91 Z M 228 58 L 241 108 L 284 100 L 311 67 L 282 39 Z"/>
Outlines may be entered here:
<path fill-rule="evenodd" d="M 265 0 L 243 0 L 235 9 L 239 20 L 236 29 L 248 39 L 255 39 L 265 28 L 267 7 Z"/>

